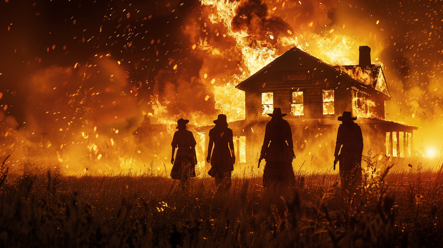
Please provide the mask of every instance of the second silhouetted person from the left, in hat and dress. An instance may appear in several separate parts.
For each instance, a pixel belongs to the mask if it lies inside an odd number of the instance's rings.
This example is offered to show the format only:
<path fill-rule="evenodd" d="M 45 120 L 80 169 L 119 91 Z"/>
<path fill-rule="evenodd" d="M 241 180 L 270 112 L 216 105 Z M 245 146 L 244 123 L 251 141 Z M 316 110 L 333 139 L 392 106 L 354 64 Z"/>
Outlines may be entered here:
<path fill-rule="evenodd" d="M 211 163 L 211 169 L 208 171 L 208 174 L 215 178 L 215 184 L 218 186 L 218 189 L 229 190 L 231 187 L 231 173 L 234 170 L 235 163 L 232 130 L 228 128 L 226 116 L 223 114 L 218 115 L 214 123 L 215 127 L 209 131 L 208 157 L 206 161 Z M 213 145 L 214 150 L 212 150 Z"/>

